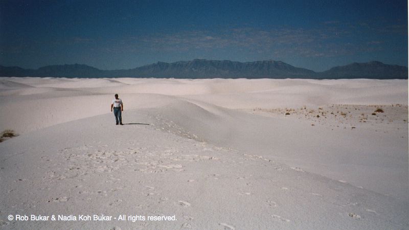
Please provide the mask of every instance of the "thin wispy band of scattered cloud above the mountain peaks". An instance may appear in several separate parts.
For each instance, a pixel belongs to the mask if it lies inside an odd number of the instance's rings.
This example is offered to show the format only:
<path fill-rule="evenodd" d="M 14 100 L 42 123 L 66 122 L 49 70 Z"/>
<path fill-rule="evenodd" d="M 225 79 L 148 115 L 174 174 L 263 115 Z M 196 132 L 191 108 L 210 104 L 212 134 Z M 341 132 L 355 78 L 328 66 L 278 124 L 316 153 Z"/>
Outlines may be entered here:
<path fill-rule="evenodd" d="M 128 37 L 112 40 L 107 43 L 104 52 L 161 52 L 183 53 L 201 51 L 217 52 L 226 51 L 250 52 L 254 54 L 274 54 L 282 57 L 335 57 L 353 55 L 359 52 L 371 52 L 383 49 L 381 40 L 365 41 L 355 39 L 359 37 L 359 28 L 342 24 L 339 21 L 324 22 L 320 28 L 280 28 L 257 29 L 235 28 L 226 30 L 195 30 L 176 33 L 156 33 L 138 37 Z M 400 30 L 395 26 L 392 30 Z M 355 40 L 354 40 L 355 39 Z"/>

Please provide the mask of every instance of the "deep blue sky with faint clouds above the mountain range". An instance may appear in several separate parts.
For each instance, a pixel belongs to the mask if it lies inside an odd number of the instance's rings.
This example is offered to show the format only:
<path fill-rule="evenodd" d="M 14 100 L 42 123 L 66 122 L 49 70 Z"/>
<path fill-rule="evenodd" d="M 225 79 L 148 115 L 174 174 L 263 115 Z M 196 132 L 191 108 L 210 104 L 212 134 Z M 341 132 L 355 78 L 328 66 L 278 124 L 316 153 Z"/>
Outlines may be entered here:
<path fill-rule="evenodd" d="M 5 1 L 0 64 L 277 60 L 314 71 L 407 66 L 406 1 Z"/>

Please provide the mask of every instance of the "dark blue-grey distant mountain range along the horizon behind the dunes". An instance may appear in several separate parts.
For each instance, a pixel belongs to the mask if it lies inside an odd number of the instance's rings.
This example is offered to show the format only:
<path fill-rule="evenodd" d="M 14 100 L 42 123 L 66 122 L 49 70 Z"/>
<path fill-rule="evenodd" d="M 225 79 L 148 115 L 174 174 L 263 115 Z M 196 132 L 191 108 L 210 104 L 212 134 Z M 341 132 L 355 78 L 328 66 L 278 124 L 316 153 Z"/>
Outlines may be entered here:
<path fill-rule="evenodd" d="M 298 68 L 282 61 L 215 61 L 194 59 L 173 63 L 157 62 L 129 70 L 99 70 L 84 64 L 48 65 L 37 70 L 0 65 L 1 77 L 66 78 L 305 78 L 305 79 L 407 79 L 408 68 L 379 61 L 352 63 L 325 72 Z"/>

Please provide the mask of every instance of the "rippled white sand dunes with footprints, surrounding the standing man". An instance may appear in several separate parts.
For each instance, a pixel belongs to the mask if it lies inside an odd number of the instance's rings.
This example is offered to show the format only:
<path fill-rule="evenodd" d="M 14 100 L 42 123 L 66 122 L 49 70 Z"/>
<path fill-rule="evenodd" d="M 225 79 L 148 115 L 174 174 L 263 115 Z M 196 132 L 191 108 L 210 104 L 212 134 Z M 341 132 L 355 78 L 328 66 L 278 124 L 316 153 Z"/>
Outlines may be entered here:
<path fill-rule="evenodd" d="M 408 228 L 407 93 L 407 80 L 0 78 L 0 131 L 19 134 L 0 143 L 0 226 Z"/>

